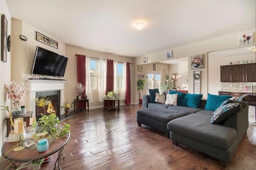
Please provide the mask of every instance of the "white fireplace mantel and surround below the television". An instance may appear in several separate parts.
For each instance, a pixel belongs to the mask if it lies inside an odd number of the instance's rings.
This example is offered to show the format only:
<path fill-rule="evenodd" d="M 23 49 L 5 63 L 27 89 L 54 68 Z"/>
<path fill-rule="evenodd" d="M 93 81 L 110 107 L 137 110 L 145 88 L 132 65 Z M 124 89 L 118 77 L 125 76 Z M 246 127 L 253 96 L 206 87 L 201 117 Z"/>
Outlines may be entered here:
<path fill-rule="evenodd" d="M 55 104 L 54 109 L 57 111 L 58 116 L 64 115 L 64 108 L 60 108 L 60 104 L 65 102 L 65 83 L 67 81 L 57 81 L 57 80 L 27 80 L 28 81 L 28 109 L 27 111 L 33 111 L 33 116 L 36 116 L 36 104 L 34 99 L 36 97 L 42 97 L 43 95 L 49 97 L 53 95 L 58 95 L 54 97 L 54 100 L 58 100 L 58 104 Z M 58 91 L 58 94 L 56 94 Z M 46 93 L 46 94 L 44 94 Z M 54 102 L 56 103 L 56 102 Z"/>

